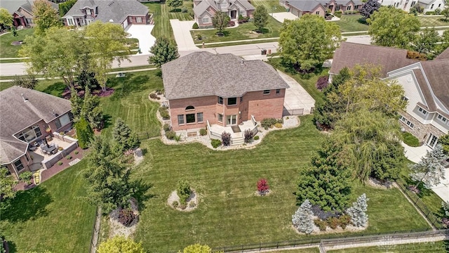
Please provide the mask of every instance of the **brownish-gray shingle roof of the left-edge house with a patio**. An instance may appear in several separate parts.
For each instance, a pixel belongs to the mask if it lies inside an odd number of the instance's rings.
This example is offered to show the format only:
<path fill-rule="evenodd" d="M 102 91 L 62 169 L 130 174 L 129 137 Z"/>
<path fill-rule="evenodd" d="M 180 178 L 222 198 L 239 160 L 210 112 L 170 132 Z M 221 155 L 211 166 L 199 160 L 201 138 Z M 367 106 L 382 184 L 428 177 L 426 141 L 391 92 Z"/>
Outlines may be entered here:
<path fill-rule="evenodd" d="M 72 107 L 64 98 L 12 86 L 0 91 L 0 108 L 0 161 L 4 164 L 23 155 L 27 149 L 27 143 L 16 139 L 14 134 L 41 119 L 51 122 Z"/>

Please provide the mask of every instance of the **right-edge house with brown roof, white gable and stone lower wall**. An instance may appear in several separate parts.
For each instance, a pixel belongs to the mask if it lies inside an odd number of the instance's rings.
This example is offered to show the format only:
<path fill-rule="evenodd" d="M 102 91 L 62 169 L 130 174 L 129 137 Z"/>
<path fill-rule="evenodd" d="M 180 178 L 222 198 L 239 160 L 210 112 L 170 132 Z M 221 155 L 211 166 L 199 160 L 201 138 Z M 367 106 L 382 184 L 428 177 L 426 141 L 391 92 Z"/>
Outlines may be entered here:
<path fill-rule="evenodd" d="M 417 61 L 406 56 L 404 49 L 343 42 L 335 51 L 330 79 L 343 67 L 380 65 L 381 77 L 396 80 L 405 91 L 403 99 L 408 105 L 399 112 L 403 129 L 434 148 L 449 131 L 449 49 L 437 57 L 440 60 Z"/>

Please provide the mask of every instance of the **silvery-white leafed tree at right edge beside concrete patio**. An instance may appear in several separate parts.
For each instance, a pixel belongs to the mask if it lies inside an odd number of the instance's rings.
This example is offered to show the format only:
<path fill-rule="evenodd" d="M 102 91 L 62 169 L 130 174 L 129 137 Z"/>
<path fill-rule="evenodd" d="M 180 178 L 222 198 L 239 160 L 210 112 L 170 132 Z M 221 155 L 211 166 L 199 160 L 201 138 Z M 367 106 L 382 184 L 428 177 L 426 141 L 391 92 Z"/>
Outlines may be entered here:
<path fill-rule="evenodd" d="M 431 188 L 438 185 L 441 179 L 445 179 L 445 167 L 443 161 L 448 160 L 449 156 L 443 153 L 443 147 L 437 144 L 434 150 L 427 151 L 427 154 L 421 158 L 420 162 L 413 164 L 411 170 L 413 171 L 410 176 L 413 181 L 417 181 L 415 188 L 420 183 L 424 183 L 425 188 Z"/>

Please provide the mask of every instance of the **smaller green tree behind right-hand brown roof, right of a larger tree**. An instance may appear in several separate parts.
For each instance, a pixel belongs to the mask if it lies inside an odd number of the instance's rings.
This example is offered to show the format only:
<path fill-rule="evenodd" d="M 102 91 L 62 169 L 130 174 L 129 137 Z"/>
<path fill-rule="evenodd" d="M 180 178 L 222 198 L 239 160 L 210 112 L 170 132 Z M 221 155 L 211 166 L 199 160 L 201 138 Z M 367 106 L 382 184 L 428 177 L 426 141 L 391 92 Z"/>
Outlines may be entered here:
<path fill-rule="evenodd" d="M 418 53 L 424 53 L 427 59 L 431 60 L 438 53 L 438 41 L 440 41 L 440 36 L 435 28 L 426 28 L 417 35 L 411 49 Z"/>

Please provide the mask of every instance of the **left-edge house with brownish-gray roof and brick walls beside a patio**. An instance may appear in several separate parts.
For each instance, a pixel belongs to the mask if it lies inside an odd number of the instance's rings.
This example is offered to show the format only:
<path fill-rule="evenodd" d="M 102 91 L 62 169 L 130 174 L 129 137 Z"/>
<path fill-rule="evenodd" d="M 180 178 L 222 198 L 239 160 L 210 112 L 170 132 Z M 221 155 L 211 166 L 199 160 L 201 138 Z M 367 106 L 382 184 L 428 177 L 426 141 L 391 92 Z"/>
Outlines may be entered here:
<path fill-rule="evenodd" d="M 72 126 L 70 101 L 12 86 L 0 91 L 0 164 L 16 179 L 33 163 L 30 144 Z"/>

